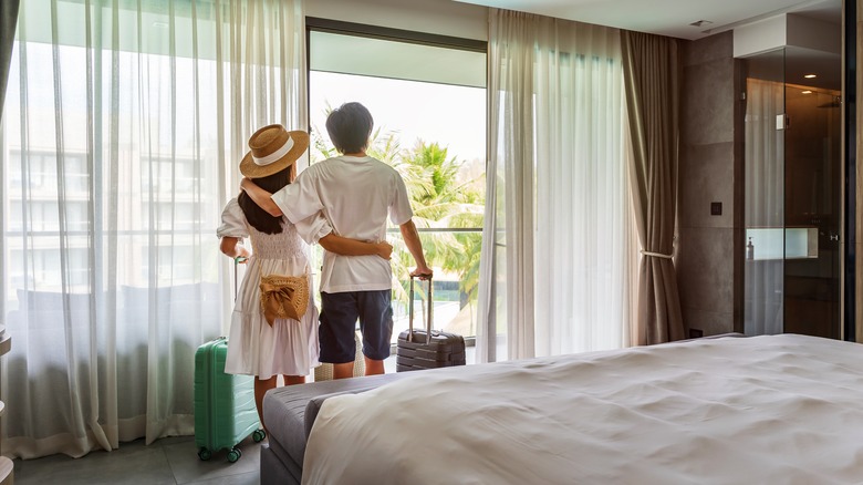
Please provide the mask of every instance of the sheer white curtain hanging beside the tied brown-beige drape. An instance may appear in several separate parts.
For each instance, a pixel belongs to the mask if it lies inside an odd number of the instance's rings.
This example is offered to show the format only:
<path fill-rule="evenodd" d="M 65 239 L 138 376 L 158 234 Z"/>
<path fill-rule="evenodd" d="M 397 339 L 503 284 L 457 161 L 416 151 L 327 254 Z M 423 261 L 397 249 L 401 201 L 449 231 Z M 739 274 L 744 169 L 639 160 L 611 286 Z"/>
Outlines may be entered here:
<path fill-rule="evenodd" d="M 622 83 L 616 29 L 491 9 L 479 360 L 628 344 Z"/>

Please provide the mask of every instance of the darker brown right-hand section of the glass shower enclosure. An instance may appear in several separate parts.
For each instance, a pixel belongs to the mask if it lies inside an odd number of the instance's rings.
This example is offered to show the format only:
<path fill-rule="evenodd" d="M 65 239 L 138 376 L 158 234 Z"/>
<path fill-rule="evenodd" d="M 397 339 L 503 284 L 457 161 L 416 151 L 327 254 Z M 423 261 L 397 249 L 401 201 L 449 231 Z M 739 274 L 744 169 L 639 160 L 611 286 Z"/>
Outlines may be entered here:
<path fill-rule="evenodd" d="M 840 106 L 839 91 L 786 83 L 787 333 L 841 338 Z"/>

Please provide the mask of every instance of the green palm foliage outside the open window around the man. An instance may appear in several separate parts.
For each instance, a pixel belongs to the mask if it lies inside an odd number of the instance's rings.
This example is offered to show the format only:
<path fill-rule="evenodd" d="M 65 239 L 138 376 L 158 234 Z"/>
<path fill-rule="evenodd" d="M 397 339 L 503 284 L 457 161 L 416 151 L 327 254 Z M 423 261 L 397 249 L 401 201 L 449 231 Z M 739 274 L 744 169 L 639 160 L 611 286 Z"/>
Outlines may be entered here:
<path fill-rule="evenodd" d="M 314 149 L 311 161 L 337 155 L 329 138 L 312 130 Z M 376 130 L 366 153 L 392 165 L 405 180 L 417 228 L 481 228 L 485 207 L 485 182 L 462 179 L 459 169 L 465 161 L 450 156 L 439 143 L 418 141 L 403 148 L 396 133 Z M 398 229 L 394 229 L 398 234 Z M 480 231 L 420 231 L 423 249 L 436 279 L 458 279 L 459 292 L 475 301 L 479 285 Z M 407 301 L 406 276 L 414 260 L 401 237 L 392 237 L 395 298 Z M 440 274 L 443 272 L 443 275 Z"/>

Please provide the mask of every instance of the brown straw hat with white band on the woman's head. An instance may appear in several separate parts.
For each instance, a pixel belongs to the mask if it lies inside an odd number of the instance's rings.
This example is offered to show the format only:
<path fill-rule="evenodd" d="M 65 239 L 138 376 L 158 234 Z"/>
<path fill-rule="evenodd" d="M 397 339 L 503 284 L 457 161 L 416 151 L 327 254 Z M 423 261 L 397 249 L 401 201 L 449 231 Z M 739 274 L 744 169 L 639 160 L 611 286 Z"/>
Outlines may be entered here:
<path fill-rule="evenodd" d="M 249 137 L 250 152 L 240 162 L 240 173 L 261 178 L 291 166 L 309 148 L 309 134 L 289 132 L 284 126 L 267 125 Z"/>

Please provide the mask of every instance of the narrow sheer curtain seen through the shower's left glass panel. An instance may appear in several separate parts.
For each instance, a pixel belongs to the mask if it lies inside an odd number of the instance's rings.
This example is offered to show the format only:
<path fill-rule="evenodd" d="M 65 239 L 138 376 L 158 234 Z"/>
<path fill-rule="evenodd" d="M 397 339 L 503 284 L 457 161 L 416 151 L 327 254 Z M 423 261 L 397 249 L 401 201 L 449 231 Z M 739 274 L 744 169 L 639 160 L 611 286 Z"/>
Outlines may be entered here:
<path fill-rule="evenodd" d="M 750 78 L 746 81 L 746 227 L 782 233 L 786 132 L 776 128 L 776 117 L 786 112 L 786 85 Z M 756 252 L 765 250 L 761 240 L 756 238 L 755 242 Z M 783 259 L 747 261 L 746 334 L 782 332 L 783 287 Z"/>

